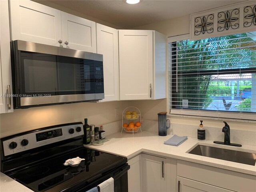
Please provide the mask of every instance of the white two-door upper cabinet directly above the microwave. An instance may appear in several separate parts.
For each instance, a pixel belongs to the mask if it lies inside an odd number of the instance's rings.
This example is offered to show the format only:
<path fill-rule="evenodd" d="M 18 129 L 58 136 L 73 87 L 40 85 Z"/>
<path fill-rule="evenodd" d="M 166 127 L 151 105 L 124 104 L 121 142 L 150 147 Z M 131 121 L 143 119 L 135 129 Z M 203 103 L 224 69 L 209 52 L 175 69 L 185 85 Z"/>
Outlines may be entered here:
<path fill-rule="evenodd" d="M 96 23 L 30 0 L 11 0 L 11 39 L 96 52 Z"/>

